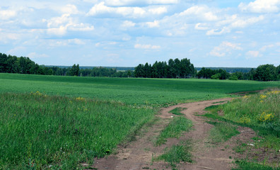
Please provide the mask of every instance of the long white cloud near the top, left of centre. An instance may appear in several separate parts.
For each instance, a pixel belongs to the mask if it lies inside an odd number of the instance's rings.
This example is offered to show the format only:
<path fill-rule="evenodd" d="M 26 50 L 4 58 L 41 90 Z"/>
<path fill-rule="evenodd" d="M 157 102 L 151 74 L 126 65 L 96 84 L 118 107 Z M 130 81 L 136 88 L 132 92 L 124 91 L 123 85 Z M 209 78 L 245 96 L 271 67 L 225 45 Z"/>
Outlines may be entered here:
<path fill-rule="evenodd" d="M 97 16 L 99 14 L 117 14 L 128 18 L 141 18 L 145 16 L 151 15 L 160 15 L 165 13 L 167 9 L 165 7 L 110 7 L 106 6 L 105 2 L 100 2 L 99 4 L 95 4 L 91 8 L 91 10 L 87 13 L 87 16 Z"/>

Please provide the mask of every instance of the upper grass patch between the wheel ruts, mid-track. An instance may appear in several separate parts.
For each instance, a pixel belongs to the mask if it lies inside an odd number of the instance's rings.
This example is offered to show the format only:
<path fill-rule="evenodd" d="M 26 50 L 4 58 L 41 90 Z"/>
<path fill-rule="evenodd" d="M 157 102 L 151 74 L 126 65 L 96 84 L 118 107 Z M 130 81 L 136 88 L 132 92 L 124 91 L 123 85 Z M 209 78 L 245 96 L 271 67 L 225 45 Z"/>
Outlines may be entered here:
<path fill-rule="evenodd" d="M 161 131 L 156 140 L 156 146 L 164 144 L 170 137 L 180 137 L 182 132 L 187 132 L 192 128 L 192 120 L 183 116 L 177 116 Z"/>

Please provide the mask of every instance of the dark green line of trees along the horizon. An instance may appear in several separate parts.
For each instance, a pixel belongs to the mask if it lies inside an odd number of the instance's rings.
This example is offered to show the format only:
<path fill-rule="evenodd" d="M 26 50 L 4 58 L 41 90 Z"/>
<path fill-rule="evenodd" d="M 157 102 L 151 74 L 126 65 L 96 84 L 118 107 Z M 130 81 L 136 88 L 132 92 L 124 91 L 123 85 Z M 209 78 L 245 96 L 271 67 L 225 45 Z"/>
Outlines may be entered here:
<path fill-rule="evenodd" d="M 137 67 L 80 67 L 39 65 L 28 57 L 0 53 L 0 73 L 42 74 L 78 77 L 143 77 L 143 78 L 198 78 L 255 81 L 280 81 L 280 65 L 260 65 L 254 68 L 197 67 L 187 59 L 139 64 Z"/>

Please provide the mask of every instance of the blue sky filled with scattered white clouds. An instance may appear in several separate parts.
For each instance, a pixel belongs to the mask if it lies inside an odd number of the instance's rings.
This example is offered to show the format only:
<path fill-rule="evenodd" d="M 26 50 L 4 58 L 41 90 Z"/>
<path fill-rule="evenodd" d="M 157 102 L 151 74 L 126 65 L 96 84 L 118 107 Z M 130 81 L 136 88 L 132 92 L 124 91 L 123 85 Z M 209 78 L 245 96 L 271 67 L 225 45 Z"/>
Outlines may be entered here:
<path fill-rule="evenodd" d="M 9 0 L 0 52 L 37 64 L 280 64 L 280 0 Z"/>

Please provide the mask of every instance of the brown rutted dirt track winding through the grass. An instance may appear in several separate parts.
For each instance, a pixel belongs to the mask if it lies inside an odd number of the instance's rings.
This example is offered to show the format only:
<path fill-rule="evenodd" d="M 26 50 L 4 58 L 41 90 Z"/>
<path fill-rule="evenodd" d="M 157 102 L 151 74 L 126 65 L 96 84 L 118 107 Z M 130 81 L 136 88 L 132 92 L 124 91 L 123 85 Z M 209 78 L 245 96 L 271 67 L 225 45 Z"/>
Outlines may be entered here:
<path fill-rule="evenodd" d="M 235 140 L 238 137 L 250 138 L 255 135 L 249 128 L 239 128 L 240 135 L 233 137 L 232 140 L 225 142 L 219 146 L 213 147 L 207 144 L 207 137 L 209 130 L 213 127 L 212 125 L 205 123 L 204 118 L 196 116 L 197 114 L 204 113 L 204 108 L 212 105 L 221 104 L 221 102 L 226 102 L 231 100 L 231 98 L 222 98 L 212 101 L 200 101 L 195 103 L 183 103 L 177 106 L 170 106 L 168 108 L 162 108 L 161 113 L 158 116 L 158 121 L 154 123 L 149 128 L 144 128 L 141 135 L 136 137 L 136 140 L 130 142 L 129 145 L 125 147 L 119 147 L 117 154 L 110 155 L 109 157 L 103 159 L 95 160 L 93 165 L 96 169 L 172 169 L 165 162 L 152 162 L 153 157 L 157 157 L 163 154 L 165 147 L 172 147 L 177 145 L 180 141 L 192 140 L 193 151 L 195 163 L 181 163 L 178 164 L 176 169 L 231 169 L 233 166 L 234 156 L 232 147 L 235 145 Z M 217 103 L 218 102 L 218 103 Z M 165 145 L 160 147 L 154 146 L 154 141 L 159 135 L 161 130 L 168 124 L 172 116 L 172 113 L 168 113 L 174 108 L 181 107 L 187 108 L 182 111 L 186 118 L 192 120 L 194 126 L 190 132 L 186 132 L 179 139 L 168 139 Z M 233 141 L 234 140 L 234 141 Z"/>

